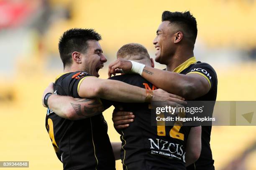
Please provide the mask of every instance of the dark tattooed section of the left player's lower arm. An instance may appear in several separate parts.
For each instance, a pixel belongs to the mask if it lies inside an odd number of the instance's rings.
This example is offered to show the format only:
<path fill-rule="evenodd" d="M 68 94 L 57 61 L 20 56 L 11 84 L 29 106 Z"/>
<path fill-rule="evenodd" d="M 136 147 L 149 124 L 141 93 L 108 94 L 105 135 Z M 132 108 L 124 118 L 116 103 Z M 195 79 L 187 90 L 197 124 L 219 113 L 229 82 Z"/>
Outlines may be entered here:
<path fill-rule="evenodd" d="M 97 99 L 74 99 L 76 102 L 81 102 L 81 104 L 70 103 L 74 108 L 77 115 L 82 117 L 90 117 L 93 115 L 100 114 L 104 111 L 104 107 Z M 81 110 L 81 106 L 84 107 Z"/>

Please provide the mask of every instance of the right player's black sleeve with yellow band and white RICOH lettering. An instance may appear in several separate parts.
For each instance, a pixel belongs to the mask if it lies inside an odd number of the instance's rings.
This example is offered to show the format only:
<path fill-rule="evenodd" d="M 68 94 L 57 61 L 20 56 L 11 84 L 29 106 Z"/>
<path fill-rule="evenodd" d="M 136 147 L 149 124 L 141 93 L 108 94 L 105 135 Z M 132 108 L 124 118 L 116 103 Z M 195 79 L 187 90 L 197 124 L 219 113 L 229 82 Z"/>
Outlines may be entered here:
<path fill-rule="evenodd" d="M 216 82 L 217 76 L 215 70 L 207 63 L 198 63 L 190 68 L 190 71 L 187 74 L 199 74 L 205 77 L 209 82 L 210 89 L 212 85 Z"/>

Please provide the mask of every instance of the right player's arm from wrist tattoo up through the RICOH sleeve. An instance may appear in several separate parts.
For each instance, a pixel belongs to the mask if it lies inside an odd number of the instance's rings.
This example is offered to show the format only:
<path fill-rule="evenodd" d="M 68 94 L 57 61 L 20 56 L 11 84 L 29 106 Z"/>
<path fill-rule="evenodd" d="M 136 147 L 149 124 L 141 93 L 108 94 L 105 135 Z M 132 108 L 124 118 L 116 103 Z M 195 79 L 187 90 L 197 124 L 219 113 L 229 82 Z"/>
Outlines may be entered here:
<path fill-rule="evenodd" d="M 145 67 L 142 76 L 159 88 L 188 100 L 207 94 L 217 81 L 215 71 L 206 63 L 195 64 L 187 74 Z"/>

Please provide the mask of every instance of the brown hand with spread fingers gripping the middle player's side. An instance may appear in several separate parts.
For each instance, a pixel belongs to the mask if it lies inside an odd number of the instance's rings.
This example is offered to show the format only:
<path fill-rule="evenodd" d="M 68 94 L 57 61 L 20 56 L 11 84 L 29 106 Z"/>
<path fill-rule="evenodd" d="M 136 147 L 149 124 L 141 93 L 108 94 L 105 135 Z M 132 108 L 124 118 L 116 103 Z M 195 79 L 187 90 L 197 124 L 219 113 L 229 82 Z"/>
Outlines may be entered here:
<path fill-rule="evenodd" d="M 115 111 L 112 115 L 112 120 L 116 129 L 123 129 L 129 126 L 129 123 L 133 122 L 135 116 L 132 112 Z"/>

